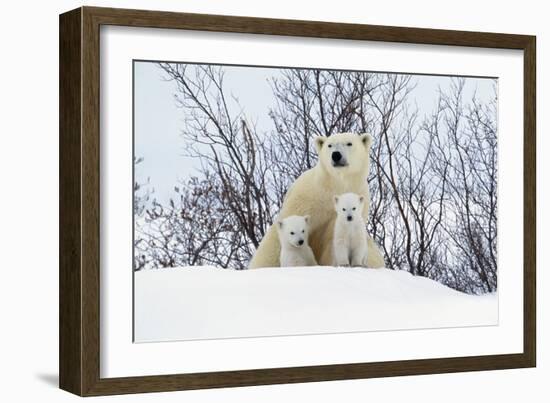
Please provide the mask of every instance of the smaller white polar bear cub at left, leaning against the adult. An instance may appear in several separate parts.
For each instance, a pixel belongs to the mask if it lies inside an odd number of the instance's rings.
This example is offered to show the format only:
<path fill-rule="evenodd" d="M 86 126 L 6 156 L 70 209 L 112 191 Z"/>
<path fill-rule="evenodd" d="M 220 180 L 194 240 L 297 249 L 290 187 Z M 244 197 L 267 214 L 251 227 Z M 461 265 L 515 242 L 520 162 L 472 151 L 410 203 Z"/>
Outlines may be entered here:
<path fill-rule="evenodd" d="M 277 222 L 281 244 L 281 267 L 316 266 L 309 247 L 309 216 L 293 215 Z"/>

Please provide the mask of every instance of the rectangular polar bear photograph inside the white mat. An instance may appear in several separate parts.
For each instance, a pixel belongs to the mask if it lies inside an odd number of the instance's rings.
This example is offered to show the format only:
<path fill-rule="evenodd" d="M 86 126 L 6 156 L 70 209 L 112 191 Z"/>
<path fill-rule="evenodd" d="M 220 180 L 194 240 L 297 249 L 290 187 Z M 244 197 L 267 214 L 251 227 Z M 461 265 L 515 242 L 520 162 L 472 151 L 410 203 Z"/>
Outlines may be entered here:
<path fill-rule="evenodd" d="M 135 343 L 498 325 L 498 77 L 132 73 Z"/>

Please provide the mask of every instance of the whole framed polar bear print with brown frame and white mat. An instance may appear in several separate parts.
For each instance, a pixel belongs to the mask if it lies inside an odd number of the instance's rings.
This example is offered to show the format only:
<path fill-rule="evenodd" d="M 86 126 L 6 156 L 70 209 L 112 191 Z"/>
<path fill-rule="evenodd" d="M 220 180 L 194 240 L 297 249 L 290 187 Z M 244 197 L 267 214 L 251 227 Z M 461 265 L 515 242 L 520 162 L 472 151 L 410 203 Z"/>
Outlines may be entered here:
<path fill-rule="evenodd" d="M 60 16 L 60 386 L 535 366 L 535 37 Z"/>

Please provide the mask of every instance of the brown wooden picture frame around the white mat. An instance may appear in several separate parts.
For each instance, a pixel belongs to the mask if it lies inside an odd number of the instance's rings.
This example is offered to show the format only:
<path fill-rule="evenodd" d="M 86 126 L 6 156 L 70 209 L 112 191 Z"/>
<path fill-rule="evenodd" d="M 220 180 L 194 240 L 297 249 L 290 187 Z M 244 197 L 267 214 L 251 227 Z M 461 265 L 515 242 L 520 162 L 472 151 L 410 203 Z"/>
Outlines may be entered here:
<path fill-rule="evenodd" d="M 523 353 L 100 377 L 99 35 L 102 25 L 519 49 L 524 52 Z M 60 387 L 81 396 L 533 367 L 536 363 L 535 37 L 81 7 L 60 16 Z"/>

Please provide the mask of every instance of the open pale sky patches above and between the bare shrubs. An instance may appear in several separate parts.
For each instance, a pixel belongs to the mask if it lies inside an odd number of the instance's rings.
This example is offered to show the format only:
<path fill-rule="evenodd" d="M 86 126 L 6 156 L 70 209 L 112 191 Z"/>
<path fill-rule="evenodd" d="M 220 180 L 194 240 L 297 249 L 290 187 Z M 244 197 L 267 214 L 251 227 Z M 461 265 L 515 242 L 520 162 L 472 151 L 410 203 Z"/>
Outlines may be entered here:
<path fill-rule="evenodd" d="M 225 87 L 239 99 L 247 119 L 255 122 L 260 131 L 272 130 L 268 112 L 275 102 L 268 80 L 279 77 L 281 69 L 225 66 L 224 70 Z M 174 101 L 176 84 L 165 81 L 166 74 L 154 62 L 135 62 L 134 74 L 134 152 L 137 157 L 144 158 L 135 177 L 138 182 L 149 178 L 150 187 L 155 190 L 154 197 L 165 203 L 174 196 L 178 180 L 196 174 L 196 162 L 182 155 L 180 133 L 184 111 L 177 108 Z M 436 106 L 438 88 L 448 88 L 451 78 L 415 75 L 412 82 L 416 88 L 410 96 L 422 120 Z M 489 99 L 493 82 L 487 78 L 467 78 L 465 99 L 474 91 L 481 100 Z"/>

